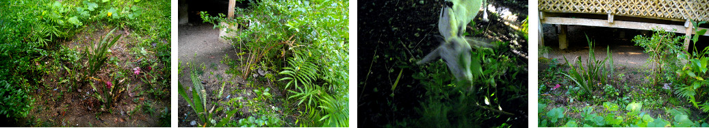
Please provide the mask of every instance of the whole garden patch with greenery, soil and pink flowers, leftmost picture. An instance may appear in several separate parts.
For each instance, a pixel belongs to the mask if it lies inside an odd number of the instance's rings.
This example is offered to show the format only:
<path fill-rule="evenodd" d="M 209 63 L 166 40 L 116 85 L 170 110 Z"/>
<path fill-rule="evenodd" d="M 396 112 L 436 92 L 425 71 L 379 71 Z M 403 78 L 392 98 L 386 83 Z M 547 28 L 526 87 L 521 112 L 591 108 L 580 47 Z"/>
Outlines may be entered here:
<path fill-rule="evenodd" d="M 12 127 L 169 127 L 169 1 L 0 1 Z"/>

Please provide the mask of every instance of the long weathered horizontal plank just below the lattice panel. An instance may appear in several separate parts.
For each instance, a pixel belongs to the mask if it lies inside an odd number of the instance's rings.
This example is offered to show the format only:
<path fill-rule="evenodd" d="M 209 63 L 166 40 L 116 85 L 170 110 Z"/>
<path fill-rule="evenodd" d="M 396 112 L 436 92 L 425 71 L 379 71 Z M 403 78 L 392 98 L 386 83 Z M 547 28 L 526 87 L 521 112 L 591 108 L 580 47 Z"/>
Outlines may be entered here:
<path fill-rule="evenodd" d="M 586 26 L 597 26 L 597 27 L 608 27 L 608 28 L 627 28 L 636 30 L 652 30 L 652 28 L 662 28 L 669 32 L 674 33 L 686 33 L 686 28 L 683 25 L 667 25 L 659 23 L 642 23 L 642 22 L 632 22 L 632 21 L 613 21 L 613 23 L 608 23 L 606 20 L 601 19 L 590 19 L 590 18 L 560 18 L 560 17 L 545 17 L 541 23 L 547 24 L 559 24 L 559 25 L 586 25 Z M 707 28 L 700 28 L 707 29 Z M 692 34 L 695 34 L 692 32 Z M 709 33 L 705 33 L 704 36 L 709 36 Z"/>

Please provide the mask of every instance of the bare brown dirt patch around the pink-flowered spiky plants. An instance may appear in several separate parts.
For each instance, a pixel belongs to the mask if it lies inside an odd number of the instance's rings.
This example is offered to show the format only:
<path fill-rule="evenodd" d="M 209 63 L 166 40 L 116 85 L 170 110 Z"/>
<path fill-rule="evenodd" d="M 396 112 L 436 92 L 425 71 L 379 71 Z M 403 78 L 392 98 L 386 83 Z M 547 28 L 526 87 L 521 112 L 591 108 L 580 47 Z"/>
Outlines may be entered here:
<path fill-rule="evenodd" d="M 92 26 L 96 27 L 96 26 Z M 91 45 L 101 40 L 110 29 L 96 27 L 96 31 L 85 31 L 76 35 L 74 40 L 67 40 L 62 45 L 74 48 L 81 53 L 83 47 Z M 119 64 L 107 64 L 97 73 L 99 78 L 108 76 L 113 71 L 130 71 L 137 66 L 140 60 L 130 55 L 130 49 L 138 42 L 134 37 L 130 37 L 132 30 L 117 29 L 114 35 L 123 35 L 116 45 L 110 48 L 110 57 L 119 59 Z M 164 40 L 163 43 L 167 43 Z M 48 61 L 49 62 L 49 61 Z M 59 64 L 72 68 L 73 64 Z M 164 65 L 159 64 L 162 69 Z M 157 70 L 156 70 L 157 71 Z M 169 74 L 154 72 L 155 74 Z M 169 85 L 147 86 L 137 76 L 128 74 L 125 81 L 114 83 L 116 86 L 126 88 L 122 93 L 118 93 L 118 100 L 113 106 L 112 112 L 101 112 L 99 101 L 89 95 L 96 93 L 91 86 L 78 86 L 79 91 L 70 90 L 66 84 L 60 81 L 61 78 L 69 76 L 65 69 L 45 74 L 40 81 L 44 85 L 37 91 L 30 93 L 35 98 L 35 109 L 28 117 L 34 123 L 42 123 L 40 126 L 46 127 L 157 127 L 160 126 L 160 113 L 169 113 Z M 99 81 L 94 81 L 96 85 L 103 86 Z M 156 97 L 150 94 L 143 94 L 144 88 L 167 88 L 166 97 Z M 140 106 L 140 107 L 138 107 Z M 149 107 L 154 112 L 144 113 L 143 109 Z M 33 124 L 28 124 L 33 125 Z"/>

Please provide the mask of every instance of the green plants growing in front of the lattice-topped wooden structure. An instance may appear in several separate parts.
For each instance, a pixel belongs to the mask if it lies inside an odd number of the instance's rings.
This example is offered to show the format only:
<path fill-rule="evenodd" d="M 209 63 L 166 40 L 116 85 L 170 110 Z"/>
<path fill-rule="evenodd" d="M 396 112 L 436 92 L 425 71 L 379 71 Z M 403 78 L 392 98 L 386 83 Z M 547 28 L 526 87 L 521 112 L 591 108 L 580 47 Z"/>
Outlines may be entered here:
<path fill-rule="evenodd" d="M 694 22 L 695 29 L 704 22 Z M 692 44 L 706 30 L 696 30 Z M 540 62 L 539 127 L 709 127 L 704 78 L 707 49 L 682 47 L 684 36 L 659 28 L 651 35 L 637 35 L 636 46 L 648 54 L 642 67 L 613 66 L 613 51 L 606 47 L 608 74 L 601 78 L 584 77 L 589 84 L 576 82 L 579 70 L 588 70 L 577 62 L 547 59 Z M 591 40 L 589 55 L 593 56 Z M 617 47 L 617 46 L 615 46 Z M 593 58 L 593 57 L 589 57 Z M 542 60 L 542 59 L 540 59 Z M 598 62 L 589 59 L 586 62 Z M 541 75 L 545 74 L 545 75 Z M 603 81 L 602 77 L 607 77 Z"/>

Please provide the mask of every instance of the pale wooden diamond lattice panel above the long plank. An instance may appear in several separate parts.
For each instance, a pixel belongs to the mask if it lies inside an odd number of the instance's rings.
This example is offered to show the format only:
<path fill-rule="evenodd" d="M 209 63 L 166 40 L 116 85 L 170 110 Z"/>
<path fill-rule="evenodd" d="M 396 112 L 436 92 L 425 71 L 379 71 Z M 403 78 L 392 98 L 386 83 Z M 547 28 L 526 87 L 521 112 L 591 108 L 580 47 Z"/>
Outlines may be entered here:
<path fill-rule="evenodd" d="M 709 21 L 709 0 L 539 0 L 539 11 Z"/>

